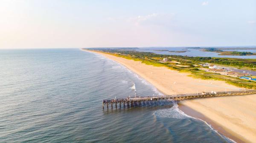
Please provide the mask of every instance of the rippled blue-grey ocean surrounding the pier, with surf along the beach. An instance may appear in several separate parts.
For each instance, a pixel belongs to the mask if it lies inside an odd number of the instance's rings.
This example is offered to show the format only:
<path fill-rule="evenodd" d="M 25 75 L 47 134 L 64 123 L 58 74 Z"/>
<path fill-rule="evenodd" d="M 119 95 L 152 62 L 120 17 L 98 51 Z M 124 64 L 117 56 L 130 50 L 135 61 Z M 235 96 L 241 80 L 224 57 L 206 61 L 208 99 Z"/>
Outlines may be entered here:
<path fill-rule="evenodd" d="M 0 50 L 1 143 L 231 143 L 177 105 L 102 109 L 159 95 L 121 64 L 79 49 Z M 133 88 L 131 88 L 133 87 Z"/>

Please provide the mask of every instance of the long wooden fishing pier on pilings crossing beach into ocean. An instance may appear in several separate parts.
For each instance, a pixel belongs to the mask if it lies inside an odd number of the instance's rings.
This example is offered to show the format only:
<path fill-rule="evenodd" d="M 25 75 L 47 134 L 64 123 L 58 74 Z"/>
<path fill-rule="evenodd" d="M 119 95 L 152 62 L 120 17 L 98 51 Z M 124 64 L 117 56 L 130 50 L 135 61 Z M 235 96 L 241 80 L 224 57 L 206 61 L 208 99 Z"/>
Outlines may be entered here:
<path fill-rule="evenodd" d="M 142 106 L 157 106 L 157 105 L 170 105 L 177 103 L 178 101 L 195 99 L 195 98 L 210 98 L 219 96 L 231 96 L 231 95 L 250 95 L 256 94 L 256 90 L 239 90 L 239 91 L 225 91 L 225 92 L 202 92 L 202 93 L 190 93 L 190 94 L 176 94 L 176 95 L 157 95 L 157 96 L 139 96 L 134 98 L 115 98 L 102 101 L 102 108 L 111 106 L 114 107 L 142 107 Z"/>

